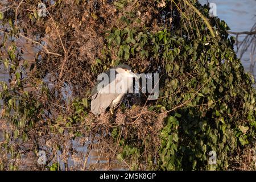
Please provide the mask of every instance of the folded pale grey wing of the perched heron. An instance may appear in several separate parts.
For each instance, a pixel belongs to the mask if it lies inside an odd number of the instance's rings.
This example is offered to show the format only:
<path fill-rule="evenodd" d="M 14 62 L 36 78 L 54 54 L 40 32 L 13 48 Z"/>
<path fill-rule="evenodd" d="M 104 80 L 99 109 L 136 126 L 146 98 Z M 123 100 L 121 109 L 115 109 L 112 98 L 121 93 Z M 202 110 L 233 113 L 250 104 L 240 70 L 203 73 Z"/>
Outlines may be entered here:
<path fill-rule="evenodd" d="M 105 72 L 109 76 L 108 84 L 105 82 L 105 86 L 99 86 L 104 82 L 104 80 L 100 80 L 92 89 L 92 101 L 90 108 L 93 114 L 101 114 L 106 108 L 112 103 L 115 98 L 119 96 L 118 93 L 110 93 L 109 86 L 113 84 L 115 81 L 113 78 L 110 78 L 110 71 Z M 105 80 L 106 81 L 106 80 Z"/>

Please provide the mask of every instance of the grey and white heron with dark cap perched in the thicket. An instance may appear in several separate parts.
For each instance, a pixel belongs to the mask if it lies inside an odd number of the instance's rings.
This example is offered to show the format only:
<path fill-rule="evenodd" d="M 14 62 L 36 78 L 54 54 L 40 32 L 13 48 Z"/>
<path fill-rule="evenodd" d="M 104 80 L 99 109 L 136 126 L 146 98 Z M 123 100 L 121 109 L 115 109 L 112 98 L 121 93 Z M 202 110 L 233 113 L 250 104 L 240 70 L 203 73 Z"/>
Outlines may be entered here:
<path fill-rule="evenodd" d="M 127 64 L 119 64 L 98 76 L 98 81 L 92 89 L 92 101 L 90 109 L 94 115 L 105 113 L 110 107 L 117 106 L 123 96 L 133 90 L 133 78 L 138 76 L 131 72 L 131 67 Z"/>

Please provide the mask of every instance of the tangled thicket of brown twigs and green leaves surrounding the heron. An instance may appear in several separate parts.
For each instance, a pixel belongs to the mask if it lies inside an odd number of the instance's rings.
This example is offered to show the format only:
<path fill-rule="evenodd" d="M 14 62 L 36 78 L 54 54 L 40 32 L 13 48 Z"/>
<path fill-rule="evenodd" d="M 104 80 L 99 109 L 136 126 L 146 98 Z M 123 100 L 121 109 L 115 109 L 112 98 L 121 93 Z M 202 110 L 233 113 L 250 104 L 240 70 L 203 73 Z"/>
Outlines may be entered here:
<path fill-rule="evenodd" d="M 0 93 L 1 169 L 18 169 L 23 155 L 39 150 L 47 164 L 36 169 L 101 168 L 86 165 L 93 148 L 127 169 L 241 169 L 242 151 L 255 147 L 254 80 L 208 5 L 59 0 L 44 1 L 47 16 L 39 16 L 38 3 L 15 1 L 0 14 L 1 69 L 9 72 Z M 18 39 L 39 49 L 35 61 L 23 59 Z M 90 90 L 119 63 L 159 73 L 160 96 L 129 94 L 114 115 L 97 118 Z M 73 140 L 87 147 L 79 160 Z"/>

